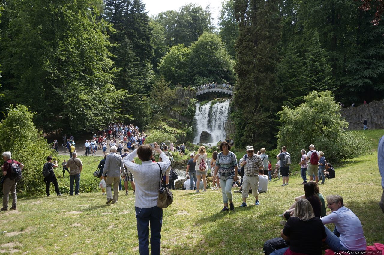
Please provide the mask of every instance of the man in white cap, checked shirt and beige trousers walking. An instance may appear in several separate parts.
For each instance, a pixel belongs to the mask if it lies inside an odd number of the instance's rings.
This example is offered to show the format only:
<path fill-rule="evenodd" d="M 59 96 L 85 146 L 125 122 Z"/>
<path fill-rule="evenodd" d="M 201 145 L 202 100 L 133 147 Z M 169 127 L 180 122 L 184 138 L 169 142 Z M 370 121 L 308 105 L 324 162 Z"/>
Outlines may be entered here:
<path fill-rule="evenodd" d="M 246 158 L 247 156 L 247 158 Z M 252 145 L 247 145 L 247 154 L 239 161 L 240 166 L 244 166 L 243 176 L 243 204 L 240 207 L 247 206 L 247 197 L 249 188 L 252 189 L 252 194 L 255 197 L 255 205 L 260 205 L 259 198 L 259 169 L 264 169 L 263 161 L 257 154 L 254 153 Z"/>

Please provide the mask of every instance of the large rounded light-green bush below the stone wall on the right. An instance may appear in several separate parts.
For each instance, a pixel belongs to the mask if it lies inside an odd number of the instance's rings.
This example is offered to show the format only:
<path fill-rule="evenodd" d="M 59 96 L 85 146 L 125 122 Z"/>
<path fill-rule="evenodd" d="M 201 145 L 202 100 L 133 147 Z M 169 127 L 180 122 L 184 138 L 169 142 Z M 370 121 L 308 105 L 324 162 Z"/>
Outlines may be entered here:
<path fill-rule="evenodd" d="M 279 112 L 278 149 L 286 146 L 291 158 L 298 160 L 301 149 L 308 151 L 309 145 L 314 144 L 332 163 L 366 154 L 370 141 L 364 135 L 345 130 L 348 123 L 339 109 L 331 91 L 313 91 L 295 109 L 283 107 Z"/>

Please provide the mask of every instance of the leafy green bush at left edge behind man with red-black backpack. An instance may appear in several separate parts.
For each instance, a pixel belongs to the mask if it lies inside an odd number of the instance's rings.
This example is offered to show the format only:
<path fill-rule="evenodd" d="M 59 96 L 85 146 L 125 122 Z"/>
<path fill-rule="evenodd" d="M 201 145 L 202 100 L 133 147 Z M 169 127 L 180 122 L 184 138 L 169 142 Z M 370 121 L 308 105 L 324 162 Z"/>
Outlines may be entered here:
<path fill-rule="evenodd" d="M 17 104 L 8 109 L 8 116 L 0 123 L 0 150 L 10 151 L 12 159 L 22 162 L 23 177 L 17 183 L 20 194 L 36 195 L 45 191 L 41 174 L 46 157 L 55 155 L 41 131 L 33 124 L 35 114 L 28 107 Z"/>

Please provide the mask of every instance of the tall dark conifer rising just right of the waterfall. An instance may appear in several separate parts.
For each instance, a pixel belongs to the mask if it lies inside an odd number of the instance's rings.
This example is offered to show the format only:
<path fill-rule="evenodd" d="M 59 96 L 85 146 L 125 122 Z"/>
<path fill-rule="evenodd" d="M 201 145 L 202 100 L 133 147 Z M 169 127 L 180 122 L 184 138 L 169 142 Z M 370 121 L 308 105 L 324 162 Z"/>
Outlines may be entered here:
<path fill-rule="evenodd" d="M 238 144 L 276 143 L 276 44 L 280 40 L 277 0 L 236 0 L 239 36 L 235 44 L 238 82 L 233 100 Z"/>

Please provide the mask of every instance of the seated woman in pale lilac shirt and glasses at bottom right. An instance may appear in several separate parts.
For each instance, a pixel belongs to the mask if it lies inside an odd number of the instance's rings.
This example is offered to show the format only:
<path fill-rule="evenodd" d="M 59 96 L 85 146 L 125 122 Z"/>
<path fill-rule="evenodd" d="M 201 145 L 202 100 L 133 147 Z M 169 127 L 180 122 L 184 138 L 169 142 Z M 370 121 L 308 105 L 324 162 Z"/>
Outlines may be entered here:
<path fill-rule="evenodd" d="M 359 218 L 351 210 L 344 207 L 343 197 L 340 195 L 327 196 L 327 206 L 331 214 L 321 218 L 324 224 L 335 224 L 333 233 L 327 227 L 327 240 L 332 250 L 366 250 L 367 243 L 362 231 Z"/>

